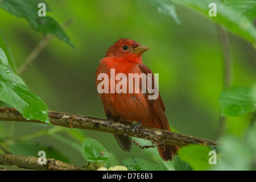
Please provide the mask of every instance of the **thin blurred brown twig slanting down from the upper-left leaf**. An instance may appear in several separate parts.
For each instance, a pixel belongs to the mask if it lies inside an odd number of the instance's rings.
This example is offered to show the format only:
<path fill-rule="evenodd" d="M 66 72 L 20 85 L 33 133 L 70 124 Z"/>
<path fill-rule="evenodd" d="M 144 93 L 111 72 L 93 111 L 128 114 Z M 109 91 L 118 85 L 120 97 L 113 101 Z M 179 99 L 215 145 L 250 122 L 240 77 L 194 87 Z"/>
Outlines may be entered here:
<path fill-rule="evenodd" d="M 73 22 L 73 18 L 67 20 L 63 24 L 63 28 L 69 26 Z M 54 35 L 44 35 L 43 39 L 39 42 L 38 46 L 36 46 L 33 51 L 28 55 L 27 59 L 24 61 L 22 65 L 18 68 L 18 75 L 22 75 L 24 72 L 27 71 L 27 69 L 30 67 L 30 65 L 33 63 L 33 61 L 38 57 L 39 53 L 43 51 L 43 49 L 46 47 L 47 43 L 50 42 L 52 39 L 54 39 Z"/>

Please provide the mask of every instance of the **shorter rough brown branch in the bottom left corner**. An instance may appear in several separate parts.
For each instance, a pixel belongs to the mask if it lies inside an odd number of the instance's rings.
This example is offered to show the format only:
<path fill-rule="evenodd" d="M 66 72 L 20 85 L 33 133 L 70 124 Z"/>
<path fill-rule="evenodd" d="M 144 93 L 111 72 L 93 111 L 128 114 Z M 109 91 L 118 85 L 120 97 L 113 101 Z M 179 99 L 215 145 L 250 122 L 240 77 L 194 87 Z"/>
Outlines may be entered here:
<path fill-rule="evenodd" d="M 46 159 L 46 164 L 39 164 L 34 156 L 0 154 L 0 165 L 18 166 L 27 169 L 49 171 L 84 171 L 84 167 L 75 166 L 55 159 Z"/>

